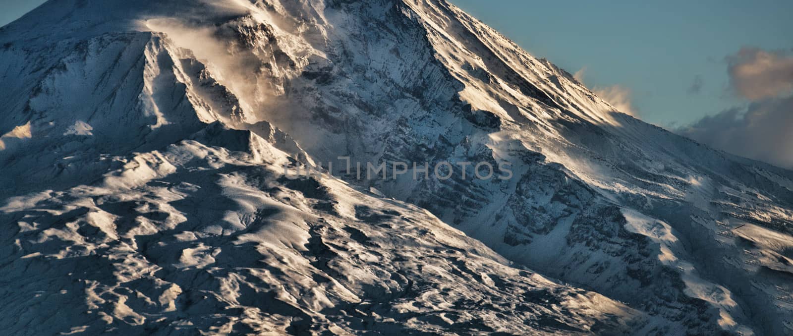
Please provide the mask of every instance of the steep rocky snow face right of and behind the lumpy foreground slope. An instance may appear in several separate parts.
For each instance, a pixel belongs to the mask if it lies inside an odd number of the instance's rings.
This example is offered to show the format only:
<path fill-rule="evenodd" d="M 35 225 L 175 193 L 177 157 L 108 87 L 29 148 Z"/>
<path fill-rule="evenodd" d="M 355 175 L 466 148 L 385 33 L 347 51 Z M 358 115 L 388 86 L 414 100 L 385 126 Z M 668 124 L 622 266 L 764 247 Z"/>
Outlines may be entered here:
<path fill-rule="evenodd" d="M 362 185 L 430 209 L 515 262 L 647 311 L 662 321 L 648 332 L 790 330 L 786 247 L 732 230 L 750 223 L 788 239 L 790 172 L 614 111 L 446 2 L 248 8 L 272 37 L 247 34 L 231 54 L 259 57 L 273 78 L 251 74 L 254 88 L 270 80 L 276 90 L 245 90 L 249 71 L 239 74 L 224 55 L 205 57 L 219 59 L 224 77 L 243 78 L 233 91 L 254 119 L 285 129 L 318 162 L 335 162 L 335 175 L 355 180 L 338 156 L 511 162 L 508 181 L 464 179 L 459 170 L 448 181 L 416 181 L 408 170 Z M 190 36 L 185 25 L 157 23 L 149 27 Z M 174 41 L 195 49 L 189 38 Z M 264 46 L 279 52 L 259 52 Z"/>

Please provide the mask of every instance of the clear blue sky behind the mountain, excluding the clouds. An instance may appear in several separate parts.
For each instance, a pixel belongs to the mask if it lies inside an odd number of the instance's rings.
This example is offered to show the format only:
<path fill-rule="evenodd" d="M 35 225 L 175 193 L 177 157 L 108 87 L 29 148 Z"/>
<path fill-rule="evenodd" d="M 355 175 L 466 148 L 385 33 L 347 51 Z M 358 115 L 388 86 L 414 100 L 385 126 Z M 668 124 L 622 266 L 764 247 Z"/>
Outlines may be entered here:
<path fill-rule="evenodd" d="M 585 68 L 589 87 L 630 90 L 638 116 L 666 127 L 744 103 L 728 92 L 726 56 L 793 48 L 789 0 L 450 1 L 532 55 L 571 73 Z M 0 0 L 0 25 L 42 2 Z"/>

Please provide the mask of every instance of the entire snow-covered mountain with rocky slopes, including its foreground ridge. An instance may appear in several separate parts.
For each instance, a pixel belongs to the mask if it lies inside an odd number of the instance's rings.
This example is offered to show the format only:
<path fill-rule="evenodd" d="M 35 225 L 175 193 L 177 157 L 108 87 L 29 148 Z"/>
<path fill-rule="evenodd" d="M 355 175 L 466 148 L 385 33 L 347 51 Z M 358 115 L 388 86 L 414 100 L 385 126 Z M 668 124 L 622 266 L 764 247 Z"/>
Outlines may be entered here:
<path fill-rule="evenodd" d="M 3 334 L 793 334 L 793 172 L 442 0 L 51 0 L 0 60 Z"/>

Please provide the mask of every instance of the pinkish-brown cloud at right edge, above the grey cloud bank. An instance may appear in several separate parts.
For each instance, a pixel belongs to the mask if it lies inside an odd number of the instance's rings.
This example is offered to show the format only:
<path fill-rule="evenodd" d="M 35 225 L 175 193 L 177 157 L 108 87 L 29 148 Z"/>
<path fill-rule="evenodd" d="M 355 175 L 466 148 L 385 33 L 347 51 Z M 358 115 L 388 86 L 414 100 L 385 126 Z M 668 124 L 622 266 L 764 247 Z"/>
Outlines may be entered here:
<path fill-rule="evenodd" d="M 741 97 L 757 101 L 793 91 L 793 55 L 741 48 L 727 56 L 730 86 Z"/>

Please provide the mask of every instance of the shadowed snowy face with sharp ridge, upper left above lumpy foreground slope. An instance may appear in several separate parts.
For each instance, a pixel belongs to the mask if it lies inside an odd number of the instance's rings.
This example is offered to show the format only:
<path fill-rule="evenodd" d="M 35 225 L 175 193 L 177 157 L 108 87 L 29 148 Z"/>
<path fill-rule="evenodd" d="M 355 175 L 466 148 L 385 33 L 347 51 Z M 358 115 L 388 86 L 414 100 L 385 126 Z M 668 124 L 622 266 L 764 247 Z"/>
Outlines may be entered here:
<path fill-rule="evenodd" d="M 2 58 L 10 96 L 0 133 L 28 130 L 3 140 L 2 181 L 11 189 L 57 188 L 60 178 L 94 171 L 82 158 L 150 151 L 204 122 L 232 120 L 238 109 L 203 64 L 159 33 L 108 33 L 44 49 L 11 44 Z"/>

